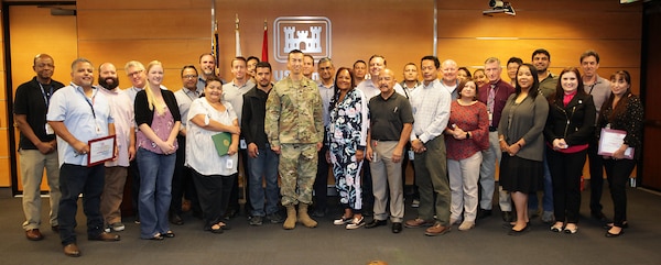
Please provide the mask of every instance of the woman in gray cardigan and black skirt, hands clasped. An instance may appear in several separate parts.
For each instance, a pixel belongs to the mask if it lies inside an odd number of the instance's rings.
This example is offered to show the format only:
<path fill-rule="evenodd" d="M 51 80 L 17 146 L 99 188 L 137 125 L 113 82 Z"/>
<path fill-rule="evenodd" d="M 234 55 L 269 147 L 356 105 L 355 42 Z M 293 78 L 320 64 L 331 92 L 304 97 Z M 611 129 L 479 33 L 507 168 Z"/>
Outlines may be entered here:
<path fill-rule="evenodd" d="M 549 102 L 539 91 L 534 66 L 523 64 L 517 70 L 517 87 L 502 109 L 498 141 L 502 151 L 500 185 L 510 191 L 517 221 L 509 231 L 520 235 L 528 231 L 528 194 L 542 186 L 544 136 Z"/>

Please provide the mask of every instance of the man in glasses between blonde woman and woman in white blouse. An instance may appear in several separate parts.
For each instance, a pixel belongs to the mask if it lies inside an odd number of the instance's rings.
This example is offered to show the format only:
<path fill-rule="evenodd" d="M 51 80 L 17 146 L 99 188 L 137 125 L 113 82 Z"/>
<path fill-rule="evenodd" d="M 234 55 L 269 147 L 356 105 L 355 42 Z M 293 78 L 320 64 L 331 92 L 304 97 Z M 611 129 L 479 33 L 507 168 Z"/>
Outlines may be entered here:
<path fill-rule="evenodd" d="M 197 69 L 195 66 L 186 65 L 182 68 L 183 88 L 174 92 L 176 104 L 182 115 L 182 125 L 180 126 L 176 141 L 178 148 L 176 150 L 176 162 L 174 164 L 174 175 L 172 176 L 172 201 L 170 202 L 170 222 L 172 224 L 182 225 L 182 198 L 191 201 L 193 216 L 202 217 L 202 209 L 197 200 L 195 184 L 193 183 L 193 173 L 189 167 L 184 166 L 186 162 L 186 124 L 188 123 L 188 110 L 193 100 L 199 98 L 204 89 L 197 88 Z"/>

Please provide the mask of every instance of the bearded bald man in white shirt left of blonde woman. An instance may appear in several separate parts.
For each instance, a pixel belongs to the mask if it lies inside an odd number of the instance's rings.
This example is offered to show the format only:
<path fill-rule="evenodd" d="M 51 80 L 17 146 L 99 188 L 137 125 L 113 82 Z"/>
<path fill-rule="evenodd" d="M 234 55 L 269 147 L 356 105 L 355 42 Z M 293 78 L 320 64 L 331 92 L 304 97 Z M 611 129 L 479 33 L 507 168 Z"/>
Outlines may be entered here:
<path fill-rule="evenodd" d="M 106 162 L 106 177 L 104 192 L 101 194 L 100 211 L 104 216 L 106 232 L 124 230 L 121 223 L 121 201 L 123 187 L 127 181 L 129 162 L 136 157 L 136 121 L 133 120 L 133 101 L 118 88 L 117 68 L 110 63 L 99 67 L 98 89 L 104 93 L 110 104 L 115 118 L 115 135 L 117 143 L 117 159 Z"/>

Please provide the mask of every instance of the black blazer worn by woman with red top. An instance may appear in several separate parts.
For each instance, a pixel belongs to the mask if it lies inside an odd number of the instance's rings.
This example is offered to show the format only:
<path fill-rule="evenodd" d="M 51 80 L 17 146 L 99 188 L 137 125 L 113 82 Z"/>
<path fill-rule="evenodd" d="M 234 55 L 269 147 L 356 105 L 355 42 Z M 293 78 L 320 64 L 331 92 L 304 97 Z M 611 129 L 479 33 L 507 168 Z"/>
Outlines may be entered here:
<path fill-rule="evenodd" d="M 546 142 L 564 139 L 567 145 L 589 143 L 594 137 L 595 119 L 597 110 L 592 95 L 576 93 L 574 98 L 563 106 L 564 95 L 554 96 L 549 104 L 549 118 L 544 128 Z"/>

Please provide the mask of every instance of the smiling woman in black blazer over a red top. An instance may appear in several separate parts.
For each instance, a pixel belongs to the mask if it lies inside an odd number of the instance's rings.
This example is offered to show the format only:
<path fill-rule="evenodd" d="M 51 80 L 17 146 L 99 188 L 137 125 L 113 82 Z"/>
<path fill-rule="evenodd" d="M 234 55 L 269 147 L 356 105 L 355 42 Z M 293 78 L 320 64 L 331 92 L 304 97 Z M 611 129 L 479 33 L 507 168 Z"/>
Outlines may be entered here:
<path fill-rule="evenodd" d="M 555 93 L 549 99 L 549 118 L 544 129 L 546 159 L 553 183 L 553 232 L 574 234 L 578 231 L 581 175 L 588 142 L 594 136 L 595 117 L 595 103 L 583 89 L 581 73 L 575 67 L 564 69 Z"/>

